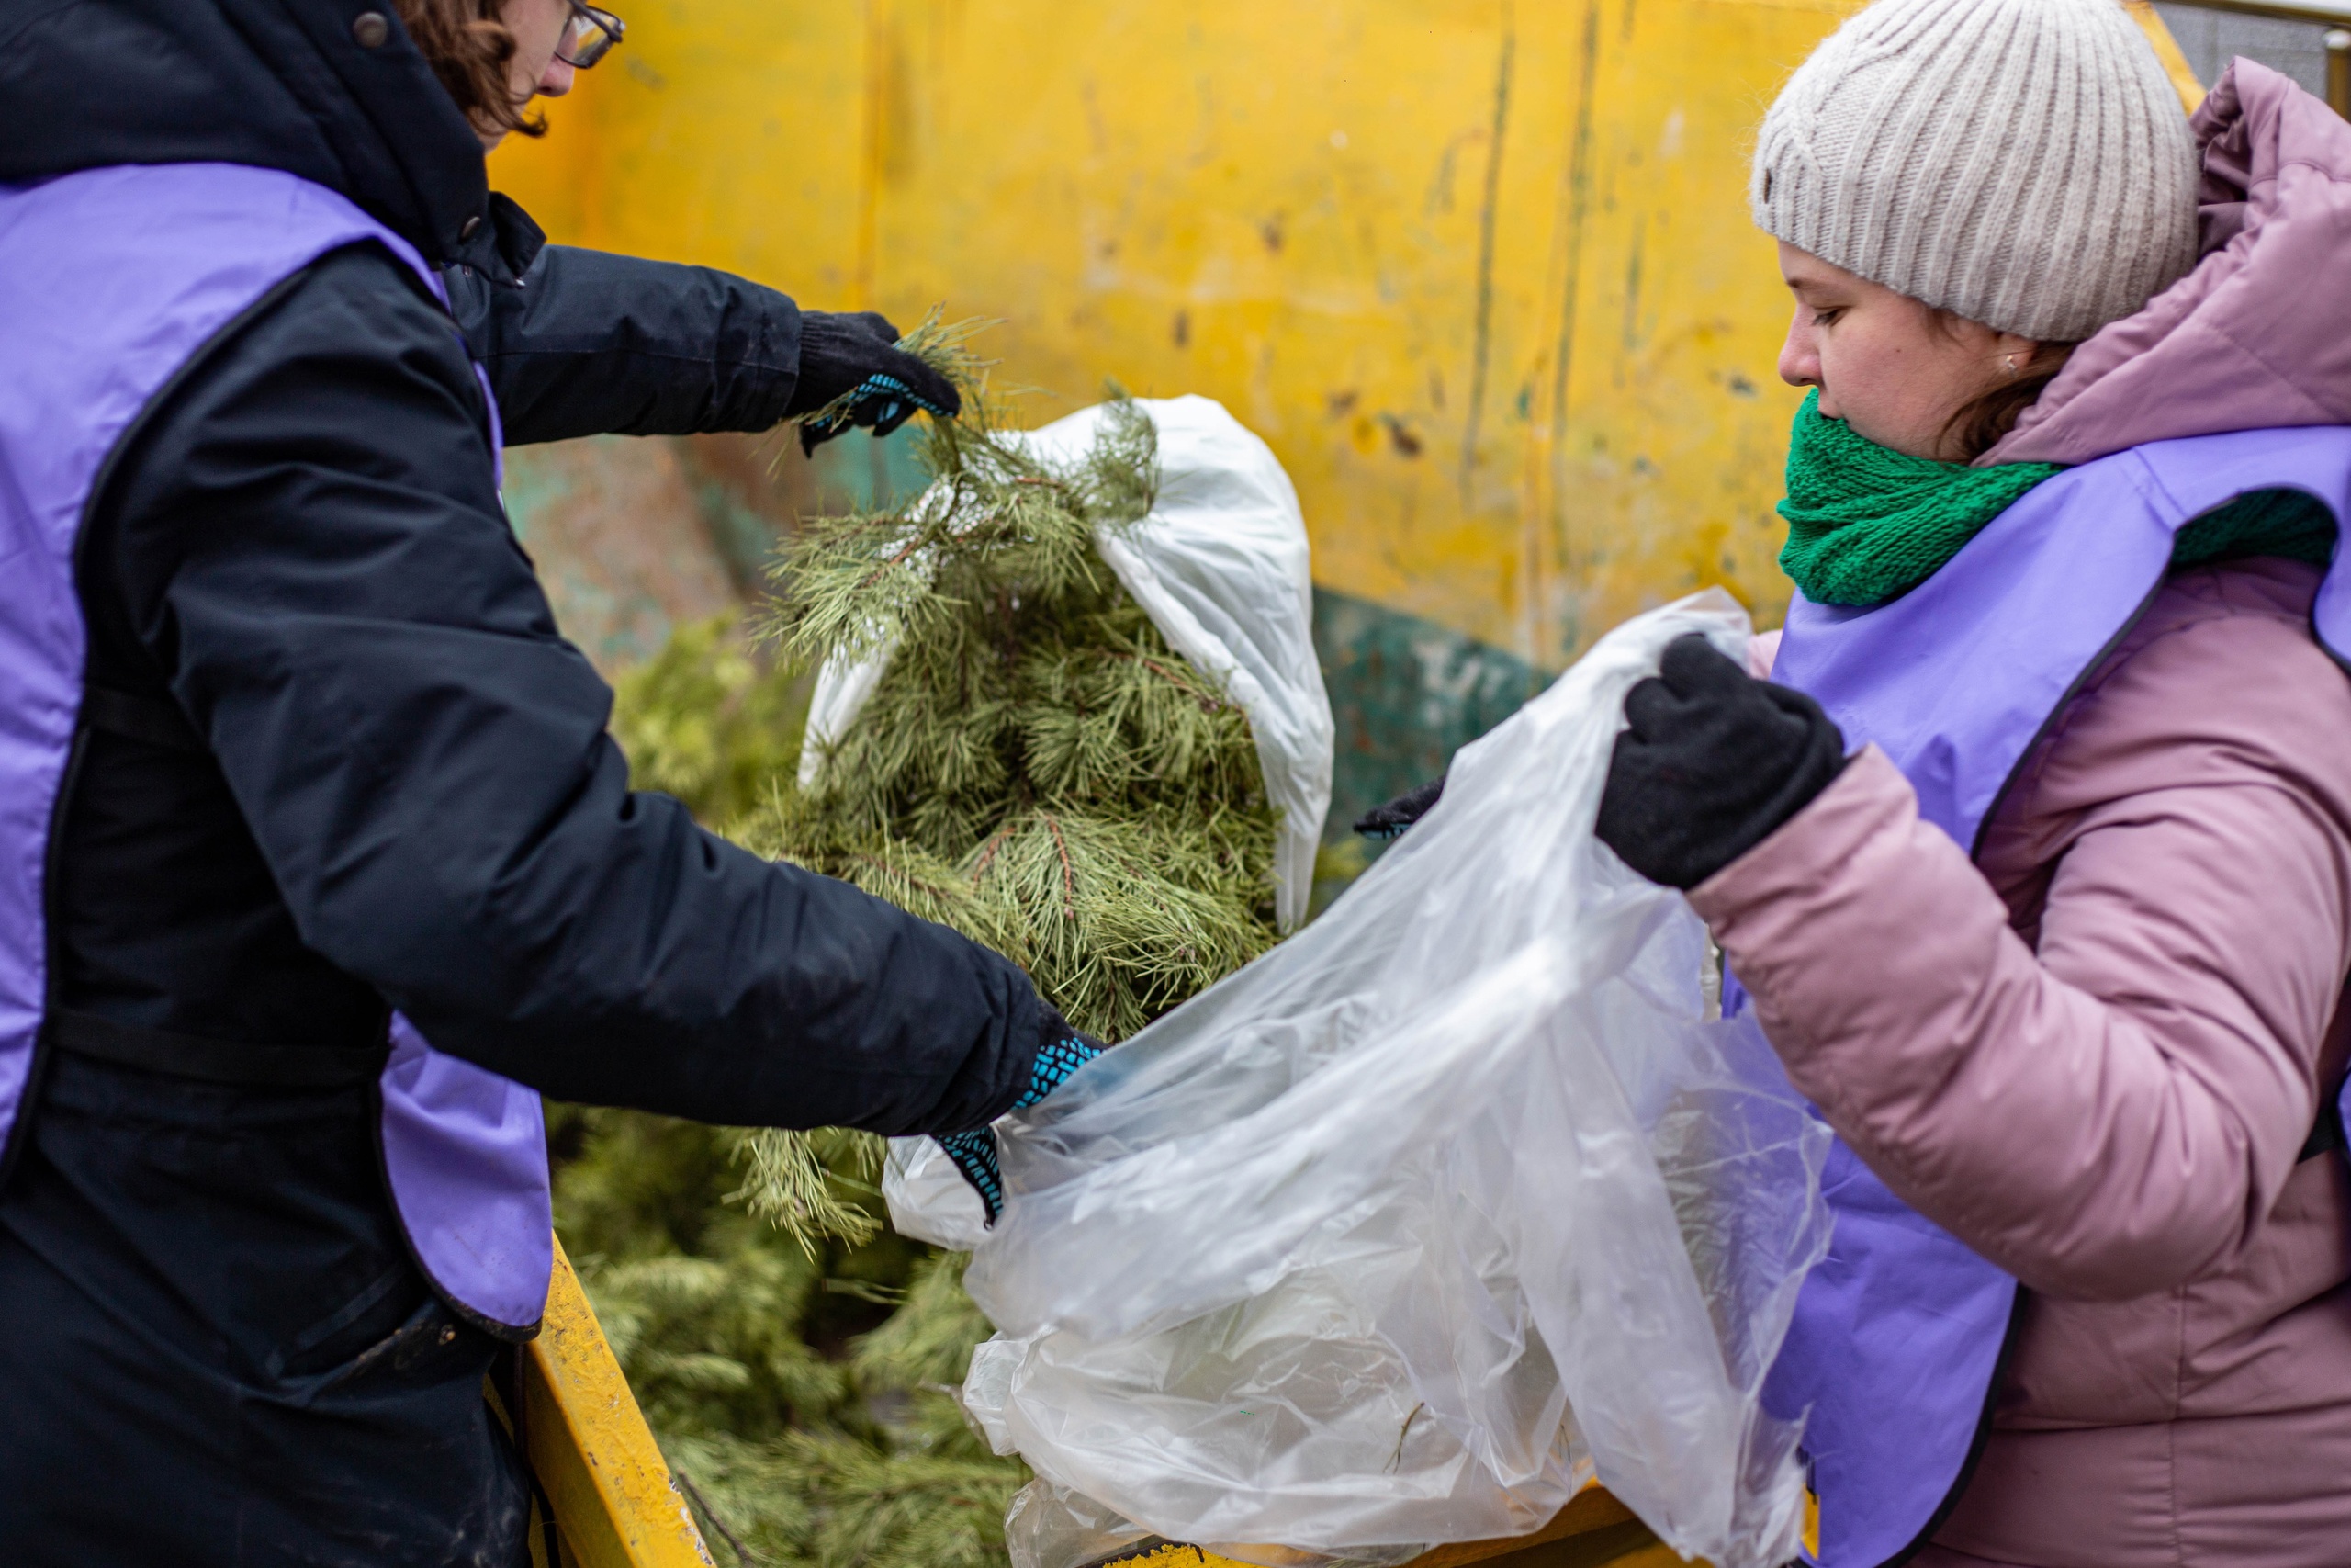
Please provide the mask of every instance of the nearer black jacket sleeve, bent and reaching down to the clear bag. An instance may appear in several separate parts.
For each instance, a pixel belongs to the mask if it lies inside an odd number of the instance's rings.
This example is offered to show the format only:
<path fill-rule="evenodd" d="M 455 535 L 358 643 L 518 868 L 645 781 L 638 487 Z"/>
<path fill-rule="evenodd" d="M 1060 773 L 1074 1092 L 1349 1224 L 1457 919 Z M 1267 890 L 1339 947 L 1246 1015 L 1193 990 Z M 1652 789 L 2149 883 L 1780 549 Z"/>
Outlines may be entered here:
<path fill-rule="evenodd" d="M 463 346 L 381 252 L 216 353 L 120 505 L 136 635 L 301 940 L 442 1051 L 569 1100 L 884 1133 L 1025 1086 L 1020 969 L 628 788 Z"/>

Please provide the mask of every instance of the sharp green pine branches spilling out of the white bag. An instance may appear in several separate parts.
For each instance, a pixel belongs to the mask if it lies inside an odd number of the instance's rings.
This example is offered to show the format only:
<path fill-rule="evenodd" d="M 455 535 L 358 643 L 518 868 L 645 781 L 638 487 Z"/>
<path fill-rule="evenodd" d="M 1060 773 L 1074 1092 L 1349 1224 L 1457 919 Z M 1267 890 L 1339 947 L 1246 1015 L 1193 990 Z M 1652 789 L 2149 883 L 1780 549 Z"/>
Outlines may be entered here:
<path fill-rule="evenodd" d="M 1150 512 L 1150 416 L 1114 397 L 1079 461 L 1041 463 L 999 423 L 969 327 L 907 334 L 966 393 L 922 435 L 931 489 L 809 522 L 783 555 L 766 635 L 790 663 L 893 651 L 816 788 L 773 783 L 734 832 L 987 943 L 1124 1039 L 1272 945 L 1274 816 L 1246 715 L 1093 543 Z M 809 1135 L 743 1147 L 736 1197 L 804 1248 L 872 1234 Z"/>

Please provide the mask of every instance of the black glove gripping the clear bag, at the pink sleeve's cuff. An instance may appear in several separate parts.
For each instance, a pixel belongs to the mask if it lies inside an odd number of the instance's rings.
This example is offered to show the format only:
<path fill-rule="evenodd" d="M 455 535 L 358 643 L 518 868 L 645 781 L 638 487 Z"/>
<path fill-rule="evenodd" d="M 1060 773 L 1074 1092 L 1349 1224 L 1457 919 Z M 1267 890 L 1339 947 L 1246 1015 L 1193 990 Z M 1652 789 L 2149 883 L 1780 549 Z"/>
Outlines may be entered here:
<path fill-rule="evenodd" d="M 1846 736 L 1801 691 L 1759 682 L 1697 632 L 1625 693 L 1594 825 L 1650 882 L 1693 889 L 1813 804 Z"/>

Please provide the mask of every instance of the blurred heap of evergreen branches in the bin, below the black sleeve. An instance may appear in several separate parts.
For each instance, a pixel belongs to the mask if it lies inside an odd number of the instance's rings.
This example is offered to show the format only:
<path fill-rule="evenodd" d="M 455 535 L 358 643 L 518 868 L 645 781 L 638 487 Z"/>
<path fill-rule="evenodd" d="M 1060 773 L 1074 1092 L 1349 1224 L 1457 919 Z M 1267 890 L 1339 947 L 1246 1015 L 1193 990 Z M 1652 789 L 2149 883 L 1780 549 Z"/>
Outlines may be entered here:
<path fill-rule="evenodd" d="M 964 1260 L 816 1246 L 731 1201 L 741 1133 L 574 1110 L 555 1225 L 712 1554 L 776 1568 L 985 1568 L 1027 1479 L 964 1427 L 987 1321 Z"/>

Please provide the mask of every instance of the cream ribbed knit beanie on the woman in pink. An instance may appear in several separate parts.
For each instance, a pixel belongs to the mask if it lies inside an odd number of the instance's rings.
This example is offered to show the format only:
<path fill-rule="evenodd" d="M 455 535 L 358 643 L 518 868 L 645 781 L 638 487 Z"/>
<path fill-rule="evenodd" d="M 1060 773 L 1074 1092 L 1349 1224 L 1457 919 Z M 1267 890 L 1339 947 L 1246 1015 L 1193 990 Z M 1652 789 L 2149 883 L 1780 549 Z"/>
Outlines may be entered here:
<path fill-rule="evenodd" d="M 2118 0 L 1878 0 L 1763 115 L 1749 205 L 1848 273 L 2062 343 L 2196 263 L 2196 143 Z"/>

